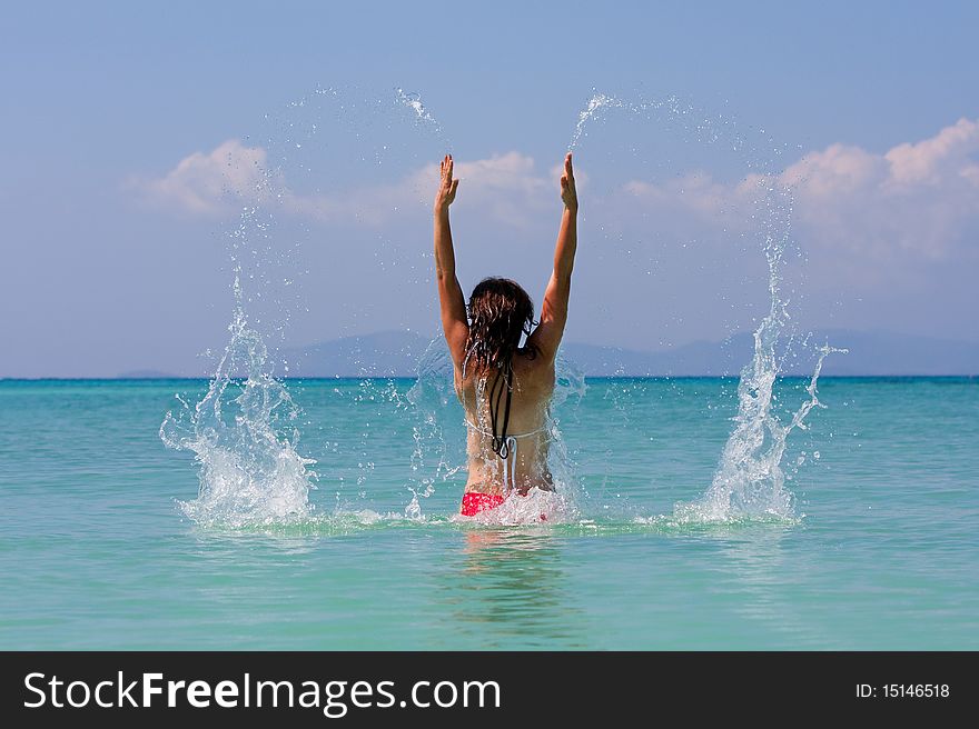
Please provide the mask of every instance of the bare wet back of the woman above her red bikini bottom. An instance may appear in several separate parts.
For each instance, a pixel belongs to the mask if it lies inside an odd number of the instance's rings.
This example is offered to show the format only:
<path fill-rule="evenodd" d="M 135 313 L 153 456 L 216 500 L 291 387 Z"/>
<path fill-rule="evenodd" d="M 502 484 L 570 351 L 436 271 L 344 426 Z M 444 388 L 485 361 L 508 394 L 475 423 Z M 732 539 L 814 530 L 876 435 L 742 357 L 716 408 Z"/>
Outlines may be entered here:
<path fill-rule="evenodd" d="M 554 360 L 547 357 L 515 354 L 513 358 L 513 396 L 506 428 L 506 458 L 493 450 L 493 421 L 490 416 L 490 392 L 495 373 L 455 368 L 456 395 L 466 413 L 469 477 L 466 491 L 504 496 L 508 489 L 526 493 L 537 487 L 553 488 L 547 469 L 548 405 L 554 391 Z M 496 435 L 501 435 L 502 409 Z M 510 452 L 506 452 L 510 451 Z"/>

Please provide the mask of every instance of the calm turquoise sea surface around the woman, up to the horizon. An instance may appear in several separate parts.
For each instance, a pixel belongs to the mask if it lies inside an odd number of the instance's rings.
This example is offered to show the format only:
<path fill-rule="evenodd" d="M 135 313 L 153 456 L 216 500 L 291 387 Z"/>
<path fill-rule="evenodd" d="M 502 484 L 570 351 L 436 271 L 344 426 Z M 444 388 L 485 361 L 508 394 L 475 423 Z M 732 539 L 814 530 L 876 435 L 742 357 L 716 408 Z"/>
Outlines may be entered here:
<path fill-rule="evenodd" d="M 453 517 L 461 412 L 412 380 L 286 385 L 308 508 L 230 523 L 159 436 L 208 382 L 0 381 L 0 648 L 979 648 L 975 379 L 821 379 L 789 511 L 729 520 L 676 505 L 736 380 L 591 379 L 555 408 L 573 506 L 522 525 Z"/>

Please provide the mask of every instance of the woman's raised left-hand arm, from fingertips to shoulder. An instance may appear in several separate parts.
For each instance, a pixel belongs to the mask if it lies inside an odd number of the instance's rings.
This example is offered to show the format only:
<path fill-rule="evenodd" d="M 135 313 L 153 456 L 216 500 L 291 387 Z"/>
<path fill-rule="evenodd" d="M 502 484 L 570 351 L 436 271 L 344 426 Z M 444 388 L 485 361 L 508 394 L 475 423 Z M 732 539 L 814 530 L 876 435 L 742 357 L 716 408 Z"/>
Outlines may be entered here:
<path fill-rule="evenodd" d="M 456 364 L 466 353 L 469 324 L 466 302 L 455 276 L 455 251 L 452 248 L 452 229 L 448 224 L 448 206 L 455 200 L 458 180 L 452 179 L 452 154 L 442 160 L 442 177 L 435 193 L 435 281 L 438 283 L 438 301 L 442 306 L 442 330 L 448 351 Z"/>

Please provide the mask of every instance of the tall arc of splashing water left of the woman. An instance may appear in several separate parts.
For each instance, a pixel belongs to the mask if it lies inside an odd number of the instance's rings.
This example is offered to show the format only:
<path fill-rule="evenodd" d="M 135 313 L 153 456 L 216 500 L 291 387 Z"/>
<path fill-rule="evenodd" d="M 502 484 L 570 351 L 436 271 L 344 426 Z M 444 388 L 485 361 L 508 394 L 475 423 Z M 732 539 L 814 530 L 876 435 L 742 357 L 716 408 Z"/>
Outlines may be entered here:
<path fill-rule="evenodd" d="M 160 428 L 165 445 L 192 452 L 199 465 L 198 498 L 180 508 L 200 523 L 247 527 L 310 518 L 315 461 L 298 451 L 300 410 L 276 378 L 266 342 L 273 334 L 285 341 L 291 309 L 303 304 L 291 287 L 295 253 L 310 239 L 309 219 L 329 219 L 329 196 L 337 194 L 337 176 L 318 176 L 315 168 L 334 171 L 368 158 L 387 163 L 388 144 L 372 144 L 377 140 L 364 134 L 360 122 L 369 126 L 393 109 L 397 119 L 412 118 L 442 133 L 416 93 L 398 89 L 365 99 L 355 89 L 318 88 L 265 114 L 270 128 L 263 146 L 275 164 L 256 162 L 246 176 L 254 189 L 228 191 L 233 202 L 245 203 L 228 241 L 235 281 L 230 340 L 204 398 L 196 406 L 178 398 L 180 406 Z M 374 467 L 369 457 L 362 460 L 358 488 Z"/>

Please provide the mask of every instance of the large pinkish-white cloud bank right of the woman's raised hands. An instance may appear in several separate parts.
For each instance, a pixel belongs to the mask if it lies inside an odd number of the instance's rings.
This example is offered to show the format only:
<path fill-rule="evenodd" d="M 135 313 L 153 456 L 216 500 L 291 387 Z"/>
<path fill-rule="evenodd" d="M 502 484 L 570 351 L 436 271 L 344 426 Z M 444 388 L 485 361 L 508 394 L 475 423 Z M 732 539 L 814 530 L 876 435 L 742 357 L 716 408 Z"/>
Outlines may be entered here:
<path fill-rule="evenodd" d="M 807 248 L 846 250 L 877 261 L 906 256 L 947 260 L 963 252 L 979 230 L 977 154 L 979 122 L 962 119 L 883 154 L 831 144 L 777 178 L 755 174 L 725 184 L 696 172 L 660 184 L 632 180 L 623 190 L 644 210 L 738 227 L 759 186 L 777 184 L 793 192 L 795 232 Z"/>

